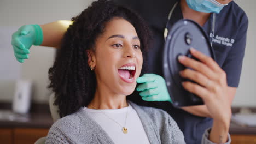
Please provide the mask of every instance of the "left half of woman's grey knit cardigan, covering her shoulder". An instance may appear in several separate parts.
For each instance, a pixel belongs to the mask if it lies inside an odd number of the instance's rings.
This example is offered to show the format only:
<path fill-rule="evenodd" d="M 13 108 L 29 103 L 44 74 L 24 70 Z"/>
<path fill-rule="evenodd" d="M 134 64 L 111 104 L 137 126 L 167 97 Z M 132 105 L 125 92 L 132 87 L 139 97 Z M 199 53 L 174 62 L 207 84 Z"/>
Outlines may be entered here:
<path fill-rule="evenodd" d="M 80 108 L 77 112 L 56 121 L 49 130 L 46 142 L 84 143 L 87 141 L 93 143 L 92 140 L 95 141 L 97 135 L 101 135 L 101 139 L 109 141 L 104 132 L 99 131 L 99 129 L 96 122 L 86 115 L 83 108 Z"/>

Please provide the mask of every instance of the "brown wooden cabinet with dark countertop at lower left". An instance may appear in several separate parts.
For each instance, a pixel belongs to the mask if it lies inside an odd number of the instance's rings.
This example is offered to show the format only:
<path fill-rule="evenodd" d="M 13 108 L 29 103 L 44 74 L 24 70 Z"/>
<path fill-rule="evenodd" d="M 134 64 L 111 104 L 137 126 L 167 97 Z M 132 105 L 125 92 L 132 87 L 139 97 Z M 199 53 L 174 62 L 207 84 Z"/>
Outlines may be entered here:
<path fill-rule="evenodd" d="M 30 113 L 19 115 L 11 112 L 11 103 L 0 101 L 0 110 L 13 117 L 0 119 L 0 144 L 34 143 L 47 136 L 53 124 L 48 104 L 31 103 Z"/>

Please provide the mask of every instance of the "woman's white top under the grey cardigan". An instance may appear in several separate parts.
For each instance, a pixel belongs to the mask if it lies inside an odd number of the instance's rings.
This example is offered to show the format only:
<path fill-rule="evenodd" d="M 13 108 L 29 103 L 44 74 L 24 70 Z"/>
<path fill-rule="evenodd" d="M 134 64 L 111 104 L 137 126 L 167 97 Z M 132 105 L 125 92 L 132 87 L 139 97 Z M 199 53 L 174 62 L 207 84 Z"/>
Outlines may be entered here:
<path fill-rule="evenodd" d="M 84 110 L 106 131 L 114 143 L 149 143 L 141 119 L 130 104 L 122 109 L 95 110 L 84 107 Z M 124 125 L 127 110 L 126 125 Z M 122 125 L 122 127 L 109 117 Z M 127 134 L 123 133 L 123 126 L 127 128 Z"/>

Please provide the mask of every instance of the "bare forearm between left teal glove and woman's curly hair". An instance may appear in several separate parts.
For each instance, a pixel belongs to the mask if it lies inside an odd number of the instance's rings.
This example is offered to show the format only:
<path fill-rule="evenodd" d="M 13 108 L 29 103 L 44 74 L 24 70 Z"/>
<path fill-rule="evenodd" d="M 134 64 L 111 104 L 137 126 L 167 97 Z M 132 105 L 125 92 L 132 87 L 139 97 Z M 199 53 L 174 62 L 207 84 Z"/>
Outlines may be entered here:
<path fill-rule="evenodd" d="M 43 43 L 41 45 L 59 48 L 61 39 L 69 25 L 72 25 L 72 21 L 59 20 L 40 25 L 43 31 Z"/>

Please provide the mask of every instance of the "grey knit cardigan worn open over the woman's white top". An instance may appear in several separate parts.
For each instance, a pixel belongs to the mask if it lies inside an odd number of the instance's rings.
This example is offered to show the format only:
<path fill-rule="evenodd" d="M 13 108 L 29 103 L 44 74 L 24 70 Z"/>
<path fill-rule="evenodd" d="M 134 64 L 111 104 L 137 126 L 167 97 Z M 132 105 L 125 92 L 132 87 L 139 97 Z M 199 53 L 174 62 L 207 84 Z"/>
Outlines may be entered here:
<path fill-rule="evenodd" d="M 182 131 L 167 112 L 152 107 L 139 106 L 130 102 L 138 113 L 149 142 L 185 143 Z M 230 135 L 227 143 L 230 143 Z M 114 144 L 109 135 L 81 108 L 77 112 L 59 119 L 49 130 L 46 143 L 108 143 Z M 139 142 L 138 142 L 139 143 Z M 208 130 L 202 137 L 208 140 Z"/>

